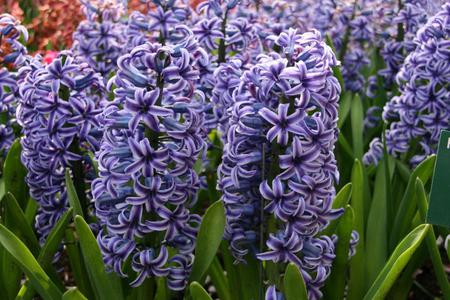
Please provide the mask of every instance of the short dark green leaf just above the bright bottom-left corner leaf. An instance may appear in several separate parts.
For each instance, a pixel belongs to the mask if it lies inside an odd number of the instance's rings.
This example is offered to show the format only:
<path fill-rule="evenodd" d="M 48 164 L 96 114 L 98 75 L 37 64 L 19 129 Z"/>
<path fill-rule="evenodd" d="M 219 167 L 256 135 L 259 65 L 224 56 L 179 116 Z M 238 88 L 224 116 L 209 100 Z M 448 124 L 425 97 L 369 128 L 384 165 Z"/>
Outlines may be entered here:
<path fill-rule="evenodd" d="M 39 242 L 34 234 L 33 228 L 27 222 L 27 218 L 17 203 L 16 198 L 8 192 L 5 196 L 6 213 L 11 218 L 8 228 L 28 246 L 34 256 L 39 253 Z"/>

